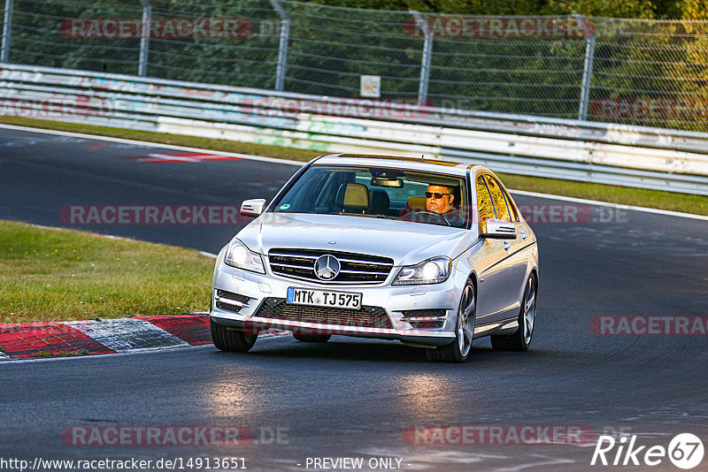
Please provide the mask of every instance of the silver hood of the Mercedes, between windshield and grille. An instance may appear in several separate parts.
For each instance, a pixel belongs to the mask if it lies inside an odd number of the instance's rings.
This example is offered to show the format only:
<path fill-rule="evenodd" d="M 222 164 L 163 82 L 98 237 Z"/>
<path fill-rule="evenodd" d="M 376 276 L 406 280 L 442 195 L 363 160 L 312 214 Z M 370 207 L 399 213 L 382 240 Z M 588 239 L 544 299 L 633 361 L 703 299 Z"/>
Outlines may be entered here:
<path fill-rule="evenodd" d="M 471 245 L 466 229 L 373 217 L 268 212 L 236 234 L 252 251 L 273 247 L 323 249 L 391 257 L 395 265 L 436 255 L 453 259 Z M 335 241 L 335 244 L 331 242 Z"/>

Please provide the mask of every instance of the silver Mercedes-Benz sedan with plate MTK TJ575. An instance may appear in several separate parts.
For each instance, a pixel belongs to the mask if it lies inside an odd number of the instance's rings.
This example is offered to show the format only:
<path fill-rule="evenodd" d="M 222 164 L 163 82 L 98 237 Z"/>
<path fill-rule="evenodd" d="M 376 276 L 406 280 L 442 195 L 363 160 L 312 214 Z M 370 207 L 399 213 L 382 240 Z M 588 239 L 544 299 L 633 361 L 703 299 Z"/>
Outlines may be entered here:
<path fill-rule="evenodd" d="M 249 351 L 258 331 L 295 339 L 396 339 L 433 361 L 464 362 L 473 339 L 526 351 L 534 334 L 538 248 L 511 195 L 480 165 L 327 155 L 219 252 L 214 345 Z"/>

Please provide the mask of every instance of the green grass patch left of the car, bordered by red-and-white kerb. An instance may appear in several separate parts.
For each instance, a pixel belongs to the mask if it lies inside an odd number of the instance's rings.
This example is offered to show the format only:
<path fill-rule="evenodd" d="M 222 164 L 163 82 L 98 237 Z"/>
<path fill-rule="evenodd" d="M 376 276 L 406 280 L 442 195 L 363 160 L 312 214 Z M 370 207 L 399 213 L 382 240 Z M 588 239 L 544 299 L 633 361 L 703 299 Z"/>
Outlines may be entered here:
<path fill-rule="evenodd" d="M 0 221 L 0 323 L 204 311 L 213 267 L 194 249 Z"/>

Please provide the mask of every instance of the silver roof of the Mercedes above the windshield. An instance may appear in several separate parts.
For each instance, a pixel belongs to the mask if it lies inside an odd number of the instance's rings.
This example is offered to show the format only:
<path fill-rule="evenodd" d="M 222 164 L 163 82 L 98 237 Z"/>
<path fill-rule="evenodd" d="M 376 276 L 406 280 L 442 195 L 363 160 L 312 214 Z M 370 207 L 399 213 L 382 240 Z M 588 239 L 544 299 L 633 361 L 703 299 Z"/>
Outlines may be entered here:
<path fill-rule="evenodd" d="M 431 159 L 411 156 L 384 156 L 376 154 L 327 154 L 319 156 L 313 164 L 365 165 L 373 167 L 390 167 L 410 171 L 430 171 L 464 177 L 467 169 L 477 168 L 488 170 L 481 165 L 459 163 L 444 159 Z"/>

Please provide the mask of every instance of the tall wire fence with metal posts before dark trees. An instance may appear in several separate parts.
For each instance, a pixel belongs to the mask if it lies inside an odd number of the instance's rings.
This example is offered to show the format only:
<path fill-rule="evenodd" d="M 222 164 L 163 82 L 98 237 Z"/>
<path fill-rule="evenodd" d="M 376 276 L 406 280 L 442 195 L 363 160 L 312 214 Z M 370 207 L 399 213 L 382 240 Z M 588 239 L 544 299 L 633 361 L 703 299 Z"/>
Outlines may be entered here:
<path fill-rule="evenodd" d="M 5 0 L 0 62 L 708 131 L 708 22 Z"/>

